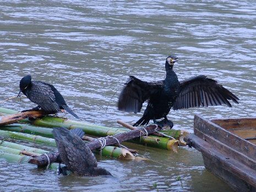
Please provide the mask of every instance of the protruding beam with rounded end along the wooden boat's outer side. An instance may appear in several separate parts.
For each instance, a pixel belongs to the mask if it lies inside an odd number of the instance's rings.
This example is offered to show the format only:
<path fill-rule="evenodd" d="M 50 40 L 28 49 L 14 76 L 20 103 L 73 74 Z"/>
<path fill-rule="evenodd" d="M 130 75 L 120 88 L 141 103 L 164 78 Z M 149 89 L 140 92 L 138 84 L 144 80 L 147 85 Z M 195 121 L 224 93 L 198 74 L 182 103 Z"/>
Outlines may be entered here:
<path fill-rule="evenodd" d="M 215 150 L 214 146 L 200 139 L 194 134 L 189 134 L 186 141 L 192 141 L 192 146 L 205 156 L 208 156 L 214 165 L 219 165 L 224 170 L 231 172 L 234 176 L 244 180 L 248 185 L 256 187 L 256 171 L 242 163 Z M 211 165 L 212 166 L 212 165 Z"/>

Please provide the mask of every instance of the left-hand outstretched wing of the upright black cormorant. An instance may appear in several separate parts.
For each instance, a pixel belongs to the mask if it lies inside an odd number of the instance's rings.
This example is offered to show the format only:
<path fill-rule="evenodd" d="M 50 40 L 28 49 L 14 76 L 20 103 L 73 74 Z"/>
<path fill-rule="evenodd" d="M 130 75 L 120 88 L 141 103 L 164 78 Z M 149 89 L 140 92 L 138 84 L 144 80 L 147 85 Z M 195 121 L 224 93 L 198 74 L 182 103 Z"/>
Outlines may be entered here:
<path fill-rule="evenodd" d="M 145 82 L 130 76 L 125 83 L 118 100 L 118 110 L 140 112 L 142 104 L 154 94 L 161 91 L 163 81 Z"/>

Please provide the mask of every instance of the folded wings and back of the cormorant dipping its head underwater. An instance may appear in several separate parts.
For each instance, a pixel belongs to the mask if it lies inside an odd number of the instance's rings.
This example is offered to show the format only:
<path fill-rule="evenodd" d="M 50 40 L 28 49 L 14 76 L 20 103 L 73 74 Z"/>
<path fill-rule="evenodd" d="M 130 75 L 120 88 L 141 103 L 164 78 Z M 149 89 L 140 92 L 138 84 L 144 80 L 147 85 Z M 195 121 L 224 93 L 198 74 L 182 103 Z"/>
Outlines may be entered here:
<path fill-rule="evenodd" d="M 68 131 L 66 128 L 53 128 L 53 135 L 61 159 L 68 170 L 79 173 L 97 167 L 94 154 L 79 135 Z"/>

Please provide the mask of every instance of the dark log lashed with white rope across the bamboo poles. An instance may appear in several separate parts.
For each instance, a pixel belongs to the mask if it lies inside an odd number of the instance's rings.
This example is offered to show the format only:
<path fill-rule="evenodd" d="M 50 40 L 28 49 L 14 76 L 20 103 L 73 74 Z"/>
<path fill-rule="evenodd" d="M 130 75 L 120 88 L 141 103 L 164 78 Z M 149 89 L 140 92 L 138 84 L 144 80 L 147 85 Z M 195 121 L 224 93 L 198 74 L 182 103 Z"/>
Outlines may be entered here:
<path fill-rule="evenodd" d="M 155 131 L 159 131 L 160 129 L 161 129 L 161 127 L 159 127 L 159 126 L 156 127 L 156 125 L 150 125 L 150 126 L 145 127 L 144 129 L 135 129 L 133 131 L 129 131 L 129 132 L 125 132 L 125 133 L 119 133 L 119 134 L 116 134 L 116 135 L 113 135 L 113 136 L 108 136 L 108 137 L 105 137 L 106 145 L 118 144 L 117 140 L 119 141 L 119 143 L 122 143 L 126 140 L 130 140 L 130 139 L 134 139 L 134 138 L 137 138 L 137 137 L 145 136 L 145 135 L 147 135 L 147 133 L 152 134 Z M 99 140 L 94 139 L 90 143 L 88 143 L 88 146 L 91 150 L 100 149 L 101 148 L 101 143 L 99 142 Z M 48 153 L 47 156 L 49 157 L 50 163 L 57 162 L 58 152 Z M 37 157 L 32 157 L 29 160 L 29 163 L 35 164 L 37 166 L 47 166 L 47 164 L 48 164 L 47 156 L 46 155 L 40 155 L 40 156 L 37 156 Z"/>

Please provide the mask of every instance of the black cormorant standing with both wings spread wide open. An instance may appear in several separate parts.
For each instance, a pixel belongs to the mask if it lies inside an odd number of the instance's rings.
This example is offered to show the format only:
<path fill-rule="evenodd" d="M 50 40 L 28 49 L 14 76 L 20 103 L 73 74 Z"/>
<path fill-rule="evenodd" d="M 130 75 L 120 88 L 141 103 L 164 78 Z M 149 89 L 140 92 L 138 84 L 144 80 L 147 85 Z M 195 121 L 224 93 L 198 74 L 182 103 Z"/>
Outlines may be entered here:
<path fill-rule="evenodd" d="M 133 126 L 147 125 L 153 120 L 160 126 L 169 125 L 172 128 L 173 123 L 166 117 L 171 108 L 178 110 L 221 104 L 232 107 L 228 100 L 238 103 L 236 95 L 204 75 L 179 82 L 172 70 L 177 60 L 172 55 L 166 58 L 166 78 L 163 81 L 145 82 L 130 76 L 125 83 L 118 100 L 119 110 L 140 112 L 142 104 L 148 100 L 143 116 Z M 162 117 L 164 120 L 156 122 L 156 119 Z"/>

